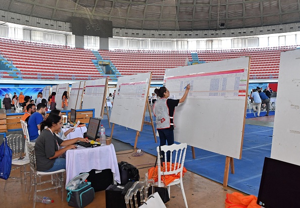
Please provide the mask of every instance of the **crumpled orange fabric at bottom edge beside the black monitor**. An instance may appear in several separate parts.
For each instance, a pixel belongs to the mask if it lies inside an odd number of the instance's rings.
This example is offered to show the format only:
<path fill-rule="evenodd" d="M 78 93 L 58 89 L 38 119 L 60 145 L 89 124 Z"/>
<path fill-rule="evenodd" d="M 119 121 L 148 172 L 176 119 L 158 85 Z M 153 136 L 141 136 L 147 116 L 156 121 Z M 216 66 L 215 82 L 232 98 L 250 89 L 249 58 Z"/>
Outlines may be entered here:
<path fill-rule="evenodd" d="M 261 208 L 256 202 L 257 197 L 254 195 L 244 196 L 238 192 L 227 193 L 225 208 Z"/>

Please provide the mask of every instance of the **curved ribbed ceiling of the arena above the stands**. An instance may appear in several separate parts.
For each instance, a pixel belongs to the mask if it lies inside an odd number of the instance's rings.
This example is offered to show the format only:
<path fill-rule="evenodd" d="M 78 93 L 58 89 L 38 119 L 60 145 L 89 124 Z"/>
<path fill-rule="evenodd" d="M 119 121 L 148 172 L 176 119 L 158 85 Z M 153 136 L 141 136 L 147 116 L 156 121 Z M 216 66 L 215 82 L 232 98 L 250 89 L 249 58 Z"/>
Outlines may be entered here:
<path fill-rule="evenodd" d="M 0 0 L 1 10 L 71 22 L 110 20 L 114 28 L 218 30 L 300 22 L 298 0 Z"/>

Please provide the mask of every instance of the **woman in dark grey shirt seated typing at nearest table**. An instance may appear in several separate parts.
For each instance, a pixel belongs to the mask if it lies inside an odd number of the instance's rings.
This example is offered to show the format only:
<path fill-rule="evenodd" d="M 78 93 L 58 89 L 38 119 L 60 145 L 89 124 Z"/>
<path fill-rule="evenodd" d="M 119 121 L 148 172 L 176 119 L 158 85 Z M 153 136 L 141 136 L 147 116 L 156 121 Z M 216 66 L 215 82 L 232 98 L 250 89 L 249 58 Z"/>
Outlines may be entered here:
<path fill-rule="evenodd" d="M 62 125 L 63 119 L 55 114 L 49 115 L 45 121 L 41 122 L 41 133 L 34 145 L 37 171 L 53 172 L 66 169 L 66 159 L 59 157 L 67 150 L 75 149 L 74 143 L 77 141 L 88 142 L 86 138 L 60 139 L 54 132 L 59 131 Z M 45 129 L 45 126 L 48 128 Z M 65 148 L 59 150 L 59 145 L 65 146 Z"/>

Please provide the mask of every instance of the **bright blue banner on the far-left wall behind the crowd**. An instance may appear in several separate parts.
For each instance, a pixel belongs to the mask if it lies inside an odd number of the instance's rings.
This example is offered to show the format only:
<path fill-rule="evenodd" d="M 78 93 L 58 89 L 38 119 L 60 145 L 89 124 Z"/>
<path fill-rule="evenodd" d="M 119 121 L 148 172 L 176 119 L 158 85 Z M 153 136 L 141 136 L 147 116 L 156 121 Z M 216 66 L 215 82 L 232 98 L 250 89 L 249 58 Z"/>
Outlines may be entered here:
<path fill-rule="evenodd" d="M 24 96 L 30 96 L 31 99 L 35 101 L 37 98 L 37 93 L 42 92 L 43 87 L 1 87 L 0 88 L 0 99 L 3 100 L 6 93 L 10 95 L 12 98 L 14 95 L 14 92 L 17 93 L 18 97 L 20 92 L 23 92 Z M 46 98 L 46 97 L 44 97 Z M 46 98 L 47 99 L 47 98 Z"/>

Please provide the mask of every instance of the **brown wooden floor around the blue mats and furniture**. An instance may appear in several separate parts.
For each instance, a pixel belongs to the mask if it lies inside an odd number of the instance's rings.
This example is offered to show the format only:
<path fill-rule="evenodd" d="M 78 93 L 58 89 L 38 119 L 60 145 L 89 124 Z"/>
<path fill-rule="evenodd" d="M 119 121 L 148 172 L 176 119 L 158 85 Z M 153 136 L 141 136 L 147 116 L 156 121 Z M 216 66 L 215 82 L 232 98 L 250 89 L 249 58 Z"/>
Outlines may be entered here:
<path fill-rule="evenodd" d="M 247 119 L 254 121 L 273 122 L 274 116 L 259 117 L 254 119 Z M 135 150 L 136 152 L 136 150 Z M 140 157 L 133 157 L 131 153 L 117 154 L 118 162 L 126 161 L 139 169 L 140 180 L 144 180 L 144 175 L 149 167 L 154 166 L 156 158 L 151 155 L 144 153 Z M 11 173 L 12 176 L 20 174 Z M 29 180 L 29 178 L 28 178 Z M 105 179 L 104 179 L 105 180 Z M 205 208 L 205 207 L 224 207 L 224 201 L 226 193 L 232 193 L 237 191 L 230 187 L 223 187 L 222 184 L 204 178 L 192 172 L 187 172 L 183 178 L 184 190 L 189 207 Z M 0 179 L 0 195 L 1 205 L 0 207 L 32 207 L 32 197 L 28 199 L 28 193 L 25 193 L 25 186 L 18 180 L 9 180 L 7 191 L 4 191 L 5 180 Z M 29 186 L 27 184 L 29 189 Z M 239 191 L 237 191 L 239 192 Z M 36 207 L 69 207 L 66 201 L 67 192 L 64 190 L 64 200 L 61 198 L 60 190 L 58 194 L 55 190 L 48 190 L 39 193 L 38 195 L 48 196 L 53 198 L 55 201 L 52 204 L 36 203 Z M 244 194 L 246 195 L 246 194 Z M 180 188 L 177 186 L 171 186 L 171 199 L 166 203 L 167 207 L 184 207 L 184 202 Z M 95 193 L 94 200 L 92 203 L 86 206 L 89 207 L 106 207 L 105 191 L 99 191 Z"/>

